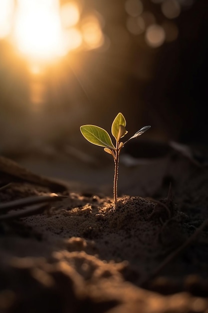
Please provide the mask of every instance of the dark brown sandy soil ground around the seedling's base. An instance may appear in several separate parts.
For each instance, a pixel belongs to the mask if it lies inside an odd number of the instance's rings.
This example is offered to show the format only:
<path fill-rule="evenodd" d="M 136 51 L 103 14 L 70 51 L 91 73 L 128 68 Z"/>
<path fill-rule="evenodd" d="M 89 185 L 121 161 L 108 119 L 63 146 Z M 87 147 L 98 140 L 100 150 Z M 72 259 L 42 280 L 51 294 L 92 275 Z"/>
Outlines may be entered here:
<path fill-rule="evenodd" d="M 112 164 L 74 162 L 71 177 L 79 167 L 88 182 L 0 158 L 1 205 L 64 196 L 26 217 L 12 217 L 25 204 L 0 208 L 0 312 L 208 312 L 205 158 L 168 146 L 143 165 L 121 161 L 116 205 L 103 178 Z"/>

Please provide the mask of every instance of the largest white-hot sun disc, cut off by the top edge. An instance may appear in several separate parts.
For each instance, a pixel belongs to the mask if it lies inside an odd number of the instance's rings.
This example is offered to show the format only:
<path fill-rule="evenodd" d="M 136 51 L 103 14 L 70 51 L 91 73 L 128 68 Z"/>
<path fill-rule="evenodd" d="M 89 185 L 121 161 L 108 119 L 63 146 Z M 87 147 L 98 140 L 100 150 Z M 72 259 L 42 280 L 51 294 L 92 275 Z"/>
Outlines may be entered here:
<path fill-rule="evenodd" d="M 18 0 L 13 40 L 32 59 L 48 60 L 61 54 L 58 0 Z"/>

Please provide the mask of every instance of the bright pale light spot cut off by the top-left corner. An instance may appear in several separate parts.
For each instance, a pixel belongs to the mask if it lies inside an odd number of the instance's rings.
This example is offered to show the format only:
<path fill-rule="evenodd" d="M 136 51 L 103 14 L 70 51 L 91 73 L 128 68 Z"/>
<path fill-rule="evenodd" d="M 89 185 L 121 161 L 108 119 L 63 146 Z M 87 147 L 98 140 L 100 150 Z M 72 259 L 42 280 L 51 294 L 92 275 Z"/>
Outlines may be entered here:
<path fill-rule="evenodd" d="M 11 17 L 13 12 L 13 0 L 0 0 L 0 38 L 9 35 L 11 29 Z"/>

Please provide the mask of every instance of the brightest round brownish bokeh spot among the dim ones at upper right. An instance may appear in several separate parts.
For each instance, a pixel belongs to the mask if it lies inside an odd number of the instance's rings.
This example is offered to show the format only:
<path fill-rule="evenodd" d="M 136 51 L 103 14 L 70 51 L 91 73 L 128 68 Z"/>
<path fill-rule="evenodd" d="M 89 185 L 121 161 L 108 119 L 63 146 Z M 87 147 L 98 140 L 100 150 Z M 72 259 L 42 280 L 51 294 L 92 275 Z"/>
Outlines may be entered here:
<path fill-rule="evenodd" d="M 151 47 L 159 47 L 164 43 L 165 38 L 165 30 L 158 24 L 152 24 L 146 29 L 145 39 Z"/>

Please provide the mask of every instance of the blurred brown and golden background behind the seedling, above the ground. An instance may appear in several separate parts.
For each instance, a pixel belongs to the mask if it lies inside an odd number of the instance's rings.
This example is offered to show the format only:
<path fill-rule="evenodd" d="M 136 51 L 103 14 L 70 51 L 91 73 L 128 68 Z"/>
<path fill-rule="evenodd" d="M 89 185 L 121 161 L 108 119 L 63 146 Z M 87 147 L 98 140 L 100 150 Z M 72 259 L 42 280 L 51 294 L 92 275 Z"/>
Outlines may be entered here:
<path fill-rule="evenodd" d="M 90 162 L 79 126 L 119 111 L 130 134 L 207 144 L 207 31 L 207 0 L 0 0 L 0 153 Z"/>

